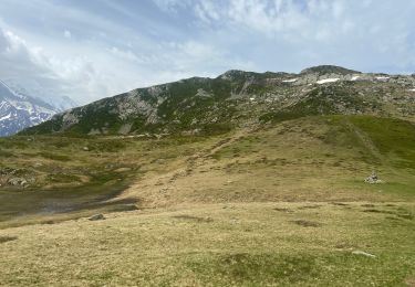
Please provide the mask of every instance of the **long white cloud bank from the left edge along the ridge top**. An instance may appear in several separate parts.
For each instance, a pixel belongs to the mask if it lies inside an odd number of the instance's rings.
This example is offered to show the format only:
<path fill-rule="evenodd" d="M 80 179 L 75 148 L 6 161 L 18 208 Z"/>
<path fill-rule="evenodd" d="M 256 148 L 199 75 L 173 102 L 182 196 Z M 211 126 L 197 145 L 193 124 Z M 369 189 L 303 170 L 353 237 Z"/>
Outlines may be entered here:
<path fill-rule="evenodd" d="M 20 83 L 33 95 L 70 96 L 83 104 L 141 86 L 195 75 L 214 76 L 227 66 L 249 66 L 198 41 L 159 42 L 139 54 L 131 50 L 131 43 L 126 43 L 127 49 L 94 45 L 64 43 L 56 49 L 63 53 L 54 53 L 53 49 L 32 45 L 11 31 L 0 30 L 0 78 Z M 80 52 L 65 53 L 68 47 Z"/>

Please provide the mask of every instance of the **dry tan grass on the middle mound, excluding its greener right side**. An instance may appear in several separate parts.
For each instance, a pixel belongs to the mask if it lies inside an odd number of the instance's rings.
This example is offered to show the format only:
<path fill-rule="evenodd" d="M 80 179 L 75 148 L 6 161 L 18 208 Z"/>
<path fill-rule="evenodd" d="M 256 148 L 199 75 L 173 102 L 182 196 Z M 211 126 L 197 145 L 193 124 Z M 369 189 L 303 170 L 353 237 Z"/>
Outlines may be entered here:
<path fill-rule="evenodd" d="M 144 174 L 122 198 L 137 198 L 144 208 L 189 202 L 394 201 L 403 200 L 402 194 L 387 192 L 385 184 L 363 184 L 363 179 L 377 169 L 388 183 L 415 180 L 407 171 L 375 163 L 376 159 L 362 160 L 362 152 L 372 157 L 363 144 L 324 142 L 331 127 L 323 120 L 243 131 L 204 142 L 205 149 L 195 155 Z"/>

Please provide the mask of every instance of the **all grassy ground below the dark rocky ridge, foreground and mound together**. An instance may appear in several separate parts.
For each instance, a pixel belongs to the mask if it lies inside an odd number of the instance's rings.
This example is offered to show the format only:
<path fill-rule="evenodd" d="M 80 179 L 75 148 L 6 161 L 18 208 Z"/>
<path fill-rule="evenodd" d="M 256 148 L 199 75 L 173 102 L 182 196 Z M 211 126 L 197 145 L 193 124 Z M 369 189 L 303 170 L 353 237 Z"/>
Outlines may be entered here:
<path fill-rule="evenodd" d="M 1 139 L 3 173 L 35 180 L 0 187 L 0 285 L 414 286 L 414 142 L 370 116 Z"/>

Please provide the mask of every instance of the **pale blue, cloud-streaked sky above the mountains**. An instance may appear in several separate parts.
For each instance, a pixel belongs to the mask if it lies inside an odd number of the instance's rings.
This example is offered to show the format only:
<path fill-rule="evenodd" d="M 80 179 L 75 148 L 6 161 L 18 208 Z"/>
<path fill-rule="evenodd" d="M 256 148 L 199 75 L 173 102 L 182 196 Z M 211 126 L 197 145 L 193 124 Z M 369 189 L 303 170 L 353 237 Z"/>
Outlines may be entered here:
<path fill-rule="evenodd" d="M 79 104 L 228 70 L 415 73 L 414 0 L 0 0 L 0 79 Z"/>

